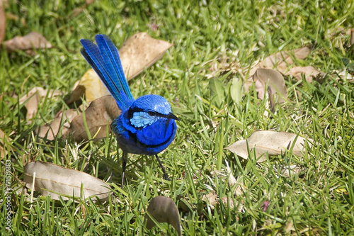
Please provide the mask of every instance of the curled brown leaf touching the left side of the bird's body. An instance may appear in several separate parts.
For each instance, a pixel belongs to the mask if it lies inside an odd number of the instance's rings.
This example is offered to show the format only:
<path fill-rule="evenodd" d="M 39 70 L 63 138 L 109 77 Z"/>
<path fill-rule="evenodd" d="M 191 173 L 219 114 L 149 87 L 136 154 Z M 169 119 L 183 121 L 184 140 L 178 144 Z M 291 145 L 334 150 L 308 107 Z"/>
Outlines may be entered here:
<path fill-rule="evenodd" d="M 115 99 L 112 96 L 103 96 L 95 101 L 91 102 L 90 106 L 85 110 L 86 124 L 89 128 L 91 137 L 98 131 L 96 138 L 106 136 L 106 127 L 112 123 L 112 121 L 120 115 L 120 109 L 118 108 Z M 72 137 L 76 142 L 82 140 L 88 140 L 89 137 L 86 133 L 84 125 L 83 113 L 76 116 L 70 123 L 70 128 L 64 137 Z"/>

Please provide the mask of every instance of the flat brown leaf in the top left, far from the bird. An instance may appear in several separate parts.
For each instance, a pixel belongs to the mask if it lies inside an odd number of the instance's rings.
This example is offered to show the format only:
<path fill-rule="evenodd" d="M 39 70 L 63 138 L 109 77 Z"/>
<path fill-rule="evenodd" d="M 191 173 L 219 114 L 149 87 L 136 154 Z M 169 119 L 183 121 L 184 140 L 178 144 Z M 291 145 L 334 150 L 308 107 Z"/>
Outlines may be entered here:
<path fill-rule="evenodd" d="M 52 48 L 52 45 L 40 33 L 32 31 L 23 37 L 16 36 L 4 42 L 6 50 L 13 52 L 16 50 L 30 50 L 33 48 Z"/>

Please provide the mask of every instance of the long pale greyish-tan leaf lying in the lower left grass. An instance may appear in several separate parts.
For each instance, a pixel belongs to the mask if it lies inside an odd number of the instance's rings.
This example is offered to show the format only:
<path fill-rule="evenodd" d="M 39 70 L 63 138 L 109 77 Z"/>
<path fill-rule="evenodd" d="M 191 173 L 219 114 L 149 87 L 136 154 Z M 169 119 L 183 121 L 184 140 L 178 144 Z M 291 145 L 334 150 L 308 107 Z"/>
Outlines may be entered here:
<path fill-rule="evenodd" d="M 84 198 L 98 197 L 101 201 L 108 201 L 108 195 L 111 193 L 110 186 L 101 179 L 48 162 L 30 162 L 25 165 L 23 171 L 23 181 L 28 189 L 39 191 L 42 196 L 49 195 L 54 200 L 59 200 L 59 196 L 63 199 L 69 199 L 65 196 L 84 196 Z M 83 193 L 81 193 L 81 185 Z"/>

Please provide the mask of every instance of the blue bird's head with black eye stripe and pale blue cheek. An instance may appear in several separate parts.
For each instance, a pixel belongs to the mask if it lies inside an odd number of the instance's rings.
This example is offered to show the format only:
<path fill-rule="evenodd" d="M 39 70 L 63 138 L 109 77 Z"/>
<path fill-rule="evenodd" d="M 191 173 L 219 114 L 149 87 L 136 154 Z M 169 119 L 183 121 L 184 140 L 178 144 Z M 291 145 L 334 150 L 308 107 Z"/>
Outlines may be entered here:
<path fill-rule="evenodd" d="M 128 109 L 127 117 L 136 128 L 145 128 L 160 119 L 178 120 L 171 111 L 170 103 L 158 95 L 139 97 Z"/>

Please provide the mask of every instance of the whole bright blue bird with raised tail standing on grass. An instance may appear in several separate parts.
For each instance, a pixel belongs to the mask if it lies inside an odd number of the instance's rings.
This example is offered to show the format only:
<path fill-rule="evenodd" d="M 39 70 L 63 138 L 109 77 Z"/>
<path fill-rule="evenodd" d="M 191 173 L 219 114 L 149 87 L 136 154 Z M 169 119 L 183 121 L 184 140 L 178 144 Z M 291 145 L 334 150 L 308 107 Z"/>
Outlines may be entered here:
<path fill-rule="evenodd" d="M 96 35 L 96 43 L 81 39 L 81 54 L 101 78 L 122 111 L 110 125 L 122 149 L 122 186 L 127 154 L 156 156 L 170 180 L 157 154 L 166 149 L 175 137 L 177 126 L 171 105 L 158 95 L 144 95 L 135 100 L 125 79 L 117 47 L 106 35 Z"/>

